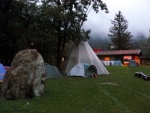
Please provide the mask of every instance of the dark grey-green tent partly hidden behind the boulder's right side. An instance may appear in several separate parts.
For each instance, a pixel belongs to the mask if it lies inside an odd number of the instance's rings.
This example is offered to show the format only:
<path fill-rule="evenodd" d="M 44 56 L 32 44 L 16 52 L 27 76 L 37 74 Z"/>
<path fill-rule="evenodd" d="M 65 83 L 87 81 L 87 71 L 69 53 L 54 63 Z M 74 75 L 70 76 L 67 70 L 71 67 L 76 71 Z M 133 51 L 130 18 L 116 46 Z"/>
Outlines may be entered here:
<path fill-rule="evenodd" d="M 62 74 L 59 72 L 57 67 L 52 66 L 48 63 L 45 63 L 44 65 L 46 67 L 46 79 L 62 77 Z"/>

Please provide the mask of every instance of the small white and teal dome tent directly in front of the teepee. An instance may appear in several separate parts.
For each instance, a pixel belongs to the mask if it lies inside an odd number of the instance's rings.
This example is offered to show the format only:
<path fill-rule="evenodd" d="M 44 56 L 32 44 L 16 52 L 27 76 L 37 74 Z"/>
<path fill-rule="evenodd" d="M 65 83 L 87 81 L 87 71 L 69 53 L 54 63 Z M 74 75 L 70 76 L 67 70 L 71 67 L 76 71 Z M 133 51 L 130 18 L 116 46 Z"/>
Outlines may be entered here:
<path fill-rule="evenodd" d="M 79 63 L 75 65 L 67 74 L 67 76 L 80 76 L 80 77 L 95 77 L 97 69 L 94 65 L 87 63 Z"/>

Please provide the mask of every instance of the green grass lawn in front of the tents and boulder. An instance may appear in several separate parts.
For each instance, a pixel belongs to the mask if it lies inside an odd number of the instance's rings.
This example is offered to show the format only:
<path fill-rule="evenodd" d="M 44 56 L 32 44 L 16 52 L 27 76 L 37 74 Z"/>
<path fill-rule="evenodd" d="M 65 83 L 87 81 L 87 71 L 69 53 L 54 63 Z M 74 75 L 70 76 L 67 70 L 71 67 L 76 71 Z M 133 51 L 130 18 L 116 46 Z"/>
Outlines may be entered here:
<path fill-rule="evenodd" d="M 63 77 L 45 83 L 41 97 L 0 99 L 0 113 L 150 113 L 150 67 L 106 67 L 98 78 Z"/>

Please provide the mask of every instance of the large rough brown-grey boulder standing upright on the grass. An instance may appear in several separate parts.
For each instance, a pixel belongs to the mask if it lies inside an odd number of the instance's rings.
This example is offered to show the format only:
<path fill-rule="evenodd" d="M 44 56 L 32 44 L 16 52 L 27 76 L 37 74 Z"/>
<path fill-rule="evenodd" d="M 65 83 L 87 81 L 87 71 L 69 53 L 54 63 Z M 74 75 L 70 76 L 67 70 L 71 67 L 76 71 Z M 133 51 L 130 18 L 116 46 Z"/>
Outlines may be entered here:
<path fill-rule="evenodd" d="M 46 69 L 41 54 L 36 49 L 20 51 L 4 75 L 2 97 L 21 99 L 41 96 L 45 80 Z"/>

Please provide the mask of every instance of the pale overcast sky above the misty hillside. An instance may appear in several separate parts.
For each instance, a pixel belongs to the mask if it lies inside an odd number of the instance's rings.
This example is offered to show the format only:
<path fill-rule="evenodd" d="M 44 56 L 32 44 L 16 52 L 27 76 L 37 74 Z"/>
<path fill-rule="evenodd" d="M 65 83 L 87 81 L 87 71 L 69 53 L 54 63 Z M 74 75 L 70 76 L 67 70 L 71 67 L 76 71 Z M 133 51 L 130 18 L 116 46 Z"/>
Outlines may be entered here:
<path fill-rule="evenodd" d="M 96 14 L 90 11 L 88 20 L 84 27 L 92 30 L 92 34 L 107 36 L 111 21 L 114 20 L 115 14 L 122 12 L 128 21 L 128 31 L 133 36 L 143 33 L 149 37 L 150 29 L 150 0 L 102 0 L 106 3 L 109 13 L 100 11 Z"/>

